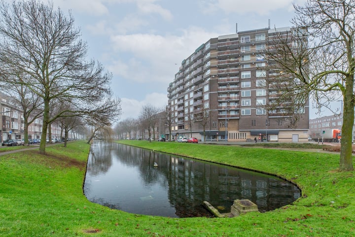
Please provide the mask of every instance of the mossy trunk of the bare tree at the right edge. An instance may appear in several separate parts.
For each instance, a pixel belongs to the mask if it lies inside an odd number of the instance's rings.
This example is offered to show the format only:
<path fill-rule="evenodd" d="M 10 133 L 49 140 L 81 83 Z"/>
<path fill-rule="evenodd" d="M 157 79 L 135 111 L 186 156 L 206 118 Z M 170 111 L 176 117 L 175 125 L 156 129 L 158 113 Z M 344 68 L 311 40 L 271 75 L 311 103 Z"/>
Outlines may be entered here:
<path fill-rule="evenodd" d="M 344 95 L 344 113 L 342 125 L 342 138 L 340 149 L 339 171 L 352 171 L 353 166 L 353 129 L 354 126 L 354 100 L 353 98 L 354 75 L 351 74 L 346 79 Z"/>

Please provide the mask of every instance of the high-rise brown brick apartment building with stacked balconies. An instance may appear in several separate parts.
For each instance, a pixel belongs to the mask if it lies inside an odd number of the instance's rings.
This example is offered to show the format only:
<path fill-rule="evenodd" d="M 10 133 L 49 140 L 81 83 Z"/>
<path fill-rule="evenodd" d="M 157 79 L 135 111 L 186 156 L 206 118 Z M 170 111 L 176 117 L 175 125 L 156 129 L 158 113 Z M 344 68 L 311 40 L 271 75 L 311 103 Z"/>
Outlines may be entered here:
<path fill-rule="evenodd" d="M 283 108 L 267 111 L 280 93 L 267 83 L 268 39 L 291 28 L 258 29 L 212 38 L 181 62 L 168 87 L 172 135 L 204 140 L 307 142 L 308 102 L 297 121 Z"/>

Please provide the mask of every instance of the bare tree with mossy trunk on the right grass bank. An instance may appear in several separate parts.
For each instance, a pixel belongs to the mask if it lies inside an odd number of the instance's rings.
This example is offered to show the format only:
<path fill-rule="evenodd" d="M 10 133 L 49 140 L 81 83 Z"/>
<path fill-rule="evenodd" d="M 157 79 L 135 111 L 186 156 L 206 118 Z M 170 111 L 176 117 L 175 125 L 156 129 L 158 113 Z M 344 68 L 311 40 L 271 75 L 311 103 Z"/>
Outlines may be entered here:
<path fill-rule="evenodd" d="M 302 110 L 309 95 L 318 107 L 342 98 L 339 170 L 354 170 L 355 1 L 308 0 L 294 8 L 293 31 L 273 39 L 277 47 L 268 50 L 268 59 L 275 62 L 276 73 L 288 77 L 283 92 L 286 102 L 292 98 L 294 111 Z"/>

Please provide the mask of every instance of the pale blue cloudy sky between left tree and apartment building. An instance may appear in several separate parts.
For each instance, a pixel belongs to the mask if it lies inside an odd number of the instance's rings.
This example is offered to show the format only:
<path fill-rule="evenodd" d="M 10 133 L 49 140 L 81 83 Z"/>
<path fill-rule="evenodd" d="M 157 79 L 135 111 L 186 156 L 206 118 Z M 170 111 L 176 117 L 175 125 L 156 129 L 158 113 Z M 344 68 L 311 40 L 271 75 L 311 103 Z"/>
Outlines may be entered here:
<path fill-rule="evenodd" d="M 293 3 L 305 0 L 53 0 L 71 11 L 88 59 L 112 73 L 122 115 L 143 105 L 164 108 L 181 61 L 202 43 L 236 31 L 291 26 Z M 236 26 L 237 24 L 237 26 Z M 317 118 L 314 112 L 310 118 Z"/>

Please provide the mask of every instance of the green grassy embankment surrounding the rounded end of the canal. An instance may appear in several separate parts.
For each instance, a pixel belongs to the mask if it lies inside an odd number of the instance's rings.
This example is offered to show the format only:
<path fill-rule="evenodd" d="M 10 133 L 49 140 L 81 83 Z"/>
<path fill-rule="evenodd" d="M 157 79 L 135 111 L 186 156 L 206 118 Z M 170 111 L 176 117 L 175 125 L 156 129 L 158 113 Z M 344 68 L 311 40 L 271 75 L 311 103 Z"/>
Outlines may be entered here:
<path fill-rule="evenodd" d="M 125 143 L 274 173 L 302 188 L 291 205 L 238 218 L 135 215 L 89 202 L 82 184 L 89 145 L 0 156 L 0 236 L 355 236 L 355 172 L 338 154 L 147 141 Z"/>

